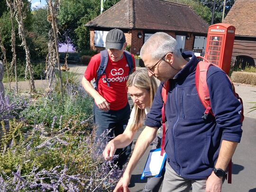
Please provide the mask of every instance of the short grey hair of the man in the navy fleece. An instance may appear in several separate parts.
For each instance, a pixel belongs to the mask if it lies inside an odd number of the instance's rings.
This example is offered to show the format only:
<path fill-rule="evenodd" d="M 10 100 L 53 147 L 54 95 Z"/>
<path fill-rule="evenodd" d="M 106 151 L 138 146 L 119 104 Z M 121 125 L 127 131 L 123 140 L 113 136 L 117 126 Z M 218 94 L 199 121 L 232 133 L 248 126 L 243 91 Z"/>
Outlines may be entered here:
<path fill-rule="evenodd" d="M 171 52 L 177 57 L 181 57 L 177 41 L 174 37 L 164 32 L 157 32 L 149 37 L 141 47 L 140 56 L 143 59 L 145 54 L 149 54 L 152 59 L 161 59 L 167 53 Z"/>

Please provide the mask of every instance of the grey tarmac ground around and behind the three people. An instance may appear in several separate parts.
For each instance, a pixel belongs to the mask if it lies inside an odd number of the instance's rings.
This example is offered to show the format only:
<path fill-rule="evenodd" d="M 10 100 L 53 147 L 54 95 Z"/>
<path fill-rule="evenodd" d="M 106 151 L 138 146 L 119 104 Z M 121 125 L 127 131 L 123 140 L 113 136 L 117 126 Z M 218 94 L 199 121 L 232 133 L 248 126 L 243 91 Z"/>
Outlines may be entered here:
<path fill-rule="evenodd" d="M 82 79 L 82 74 L 84 73 L 86 66 L 69 64 L 69 67 L 70 71 L 81 74 Z M 232 184 L 228 184 L 227 181 L 225 181 L 222 187 L 222 192 L 256 192 L 256 110 L 249 112 L 251 110 L 249 108 L 253 107 L 253 103 L 250 102 L 256 102 L 256 86 L 238 83 L 234 84 L 237 93 L 243 99 L 245 120 L 242 127 L 243 136 L 241 142 L 238 144 L 237 150 L 232 158 Z M 8 83 L 4 83 L 4 85 L 6 88 L 9 87 Z M 14 86 L 15 83 L 12 82 L 11 87 L 14 88 Z M 47 82 L 45 80 L 36 80 L 35 86 L 36 89 L 44 90 L 47 88 Z M 28 82 L 18 82 L 18 88 L 22 91 L 28 91 Z M 132 103 L 130 98 L 129 102 Z M 137 131 L 137 134 L 133 139 L 132 149 L 142 130 L 143 128 L 140 128 Z M 146 184 L 146 179 L 141 180 L 140 176 L 150 149 L 151 146 L 148 147 L 146 153 L 132 173 L 129 185 L 129 190 L 131 192 L 141 192 Z"/>

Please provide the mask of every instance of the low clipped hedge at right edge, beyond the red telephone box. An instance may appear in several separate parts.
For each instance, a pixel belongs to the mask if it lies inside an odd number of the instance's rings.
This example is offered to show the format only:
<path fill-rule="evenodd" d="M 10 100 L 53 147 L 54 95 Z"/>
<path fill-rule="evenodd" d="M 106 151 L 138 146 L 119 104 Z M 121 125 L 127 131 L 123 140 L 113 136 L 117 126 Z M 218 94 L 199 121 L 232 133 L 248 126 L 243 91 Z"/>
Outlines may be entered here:
<path fill-rule="evenodd" d="M 256 73 L 249 72 L 233 72 L 231 74 L 233 82 L 256 85 Z"/>

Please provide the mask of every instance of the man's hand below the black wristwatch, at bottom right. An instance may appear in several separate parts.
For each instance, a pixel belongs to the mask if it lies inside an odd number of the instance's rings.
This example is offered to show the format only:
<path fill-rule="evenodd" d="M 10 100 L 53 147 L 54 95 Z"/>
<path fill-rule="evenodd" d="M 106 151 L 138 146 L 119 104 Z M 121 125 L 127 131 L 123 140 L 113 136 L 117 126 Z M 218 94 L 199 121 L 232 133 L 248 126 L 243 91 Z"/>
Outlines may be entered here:
<path fill-rule="evenodd" d="M 221 192 L 222 177 L 217 177 L 213 172 L 206 181 L 205 192 Z"/>

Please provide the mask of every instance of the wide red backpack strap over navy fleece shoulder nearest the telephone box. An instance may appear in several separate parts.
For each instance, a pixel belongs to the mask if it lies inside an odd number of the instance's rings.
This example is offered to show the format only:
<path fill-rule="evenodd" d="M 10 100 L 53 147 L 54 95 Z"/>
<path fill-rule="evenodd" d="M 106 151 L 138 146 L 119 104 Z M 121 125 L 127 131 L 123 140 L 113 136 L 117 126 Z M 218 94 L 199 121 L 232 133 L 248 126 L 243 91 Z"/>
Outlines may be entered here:
<path fill-rule="evenodd" d="M 204 115 L 202 116 L 203 119 L 207 119 L 209 113 L 214 116 L 210 106 L 210 93 L 206 82 L 207 71 L 211 65 L 213 64 L 200 61 L 196 66 L 195 72 L 196 90 L 205 108 Z"/>

